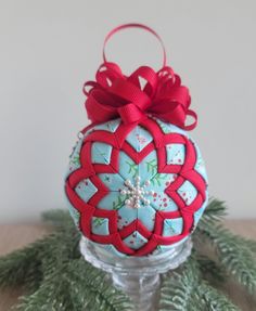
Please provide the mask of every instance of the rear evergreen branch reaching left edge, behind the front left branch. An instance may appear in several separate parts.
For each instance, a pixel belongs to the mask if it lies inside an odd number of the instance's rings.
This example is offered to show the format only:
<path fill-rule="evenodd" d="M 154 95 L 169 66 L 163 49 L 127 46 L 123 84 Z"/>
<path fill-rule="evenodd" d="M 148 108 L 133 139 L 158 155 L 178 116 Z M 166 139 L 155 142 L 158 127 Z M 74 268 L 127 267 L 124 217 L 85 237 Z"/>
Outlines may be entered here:
<path fill-rule="evenodd" d="M 29 246 L 0 258 L 0 287 L 24 286 L 38 288 L 48 270 L 54 270 L 61 260 L 69 260 L 79 255 L 80 234 L 73 230 L 59 228 L 55 232 Z"/>

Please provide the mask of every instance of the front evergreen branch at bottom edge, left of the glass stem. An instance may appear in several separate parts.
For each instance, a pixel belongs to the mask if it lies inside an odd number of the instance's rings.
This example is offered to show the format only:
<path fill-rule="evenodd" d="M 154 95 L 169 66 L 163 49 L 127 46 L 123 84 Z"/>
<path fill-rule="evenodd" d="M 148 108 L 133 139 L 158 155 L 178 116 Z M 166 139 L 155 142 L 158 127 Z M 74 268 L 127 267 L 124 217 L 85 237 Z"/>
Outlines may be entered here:
<path fill-rule="evenodd" d="M 130 311 L 129 299 L 112 287 L 100 270 L 84 258 L 59 265 L 48 274 L 40 288 L 22 298 L 21 311 Z"/>

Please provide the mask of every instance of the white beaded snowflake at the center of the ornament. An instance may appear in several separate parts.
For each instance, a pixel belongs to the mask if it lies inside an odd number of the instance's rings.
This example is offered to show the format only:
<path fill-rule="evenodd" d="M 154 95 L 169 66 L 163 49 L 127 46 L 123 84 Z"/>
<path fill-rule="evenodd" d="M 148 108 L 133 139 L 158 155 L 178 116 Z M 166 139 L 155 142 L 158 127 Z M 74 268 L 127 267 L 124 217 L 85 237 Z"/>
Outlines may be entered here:
<path fill-rule="evenodd" d="M 132 184 L 130 180 L 126 180 L 125 187 L 120 190 L 120 194 L 127 196 L 125 204 L 132 208 L 140 208 L 141 203 L 150 205 L 151 202 L 146 196 L 152 196 L 154 194 L 153 191 L 145 190 L 145 187 L 150 185 L 150 180 L 146 180 L 141 185 L 141 179 L 137 176 L 135 181 L 136 183 Z"/>

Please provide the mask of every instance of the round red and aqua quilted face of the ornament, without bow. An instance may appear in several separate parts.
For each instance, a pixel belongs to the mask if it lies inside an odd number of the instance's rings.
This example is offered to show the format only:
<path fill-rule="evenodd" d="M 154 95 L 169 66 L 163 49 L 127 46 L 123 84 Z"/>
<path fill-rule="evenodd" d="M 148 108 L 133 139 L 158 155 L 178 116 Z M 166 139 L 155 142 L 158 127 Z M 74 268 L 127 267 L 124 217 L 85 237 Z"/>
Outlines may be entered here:
<path fill-rule="evenodd" d="M 76 166 L 72 163 L 65 183 L 68 200 L 77 212 L 75 221 L 82 234 L 107 248 L 113 246 L 114 252 L 128 256 L 146 256 L 158 246 L 165 251 L 162 245 L 182 241 L 191 234 L 200 218 L 199 210 L 207 202 L 207 182 L 202 169 L 199 171 L 200 154 L 193 141 L 176 128 L 165 133 L 152 118 L 142 120 L 138 127 L 119 122 L 112 132 L 104 125 L 91 128 L 72 156 L 72 160 L 78 156 L 79 163 Z M 146 137 L 148 144 L 138 143 L 136 133 Z M 93 147 L 94 144 L 99 148 Z M 169 151 L 167 145 L 170 144 Z M 169 163 L 178 150 L 183 153 L 179 157 L 181 161 Z M 107 154 L 103 156 L 102 152 Z M 84 180 L 93 191 L 86 190 Z M 193 187 L 196 196 L 188 202 L 183 193 Z M 105 219 L 104 225 L 97 228 L 93 217 Z M 179 231 L 174 233 L 169 228 L 178 219 Z M 141 237 L 143 245 L 138 244 Z"/>

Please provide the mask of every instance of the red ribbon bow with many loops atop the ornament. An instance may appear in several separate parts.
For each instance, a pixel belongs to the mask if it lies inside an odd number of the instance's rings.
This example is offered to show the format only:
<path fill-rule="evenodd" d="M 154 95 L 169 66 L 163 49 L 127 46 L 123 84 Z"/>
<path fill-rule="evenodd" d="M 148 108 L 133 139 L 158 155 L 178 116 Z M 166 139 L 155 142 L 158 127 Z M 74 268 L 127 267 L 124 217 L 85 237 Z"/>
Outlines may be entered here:
<path fill-rule="evenodd" d="M 180 77 L 167 66 L 157 73 L 141 66 L 127 77 L 116 64 L 105 62 L 98 69 L 95 81 L 85 83 L 84 92 L 88 118 L 92 122 L 120 117 L 125 124 L 130 124 L 146 115 L 185 130 L 194 129 L 197 122 L 196 114 L 189 109 L 189 89 L 181 86 Z M 193 124 L 185 125 L 187 116 L 194 118 Z"/>

